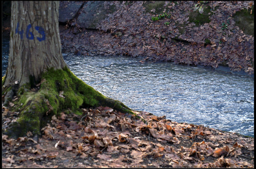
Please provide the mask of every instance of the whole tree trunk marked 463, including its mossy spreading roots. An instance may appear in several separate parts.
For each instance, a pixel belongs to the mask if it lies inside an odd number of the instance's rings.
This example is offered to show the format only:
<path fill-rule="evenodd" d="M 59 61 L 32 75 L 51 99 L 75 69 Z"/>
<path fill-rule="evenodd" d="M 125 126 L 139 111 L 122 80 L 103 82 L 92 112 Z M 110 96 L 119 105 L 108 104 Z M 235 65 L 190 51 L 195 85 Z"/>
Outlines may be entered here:
<path fill-rule="evenodd" d="M 134 114 L 69 70 L 61 56 L 58 8 L 59 2 L 12 1 L 10 56 L 2 78 L 4 105 L 12 102 L 10 110 L 19 112 L 19 118 L 3 132 L 10 137 L 27 132 L 40 135 L 53 115 L 67 110 L 81 113 L 81 107 L 109 106 Z"/>

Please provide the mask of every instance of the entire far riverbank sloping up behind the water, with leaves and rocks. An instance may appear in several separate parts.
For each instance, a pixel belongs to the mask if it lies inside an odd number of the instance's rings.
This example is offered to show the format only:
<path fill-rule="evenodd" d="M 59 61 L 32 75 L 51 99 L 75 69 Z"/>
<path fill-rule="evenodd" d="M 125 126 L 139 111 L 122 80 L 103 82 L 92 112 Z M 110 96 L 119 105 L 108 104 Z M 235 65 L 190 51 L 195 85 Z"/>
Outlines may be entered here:
<path fill-rule="evenodd" d="M 10 32 L 5 2 L 2 35 Z M 254 2 L 60 2 L 62 49 L 254 75 Z"/>

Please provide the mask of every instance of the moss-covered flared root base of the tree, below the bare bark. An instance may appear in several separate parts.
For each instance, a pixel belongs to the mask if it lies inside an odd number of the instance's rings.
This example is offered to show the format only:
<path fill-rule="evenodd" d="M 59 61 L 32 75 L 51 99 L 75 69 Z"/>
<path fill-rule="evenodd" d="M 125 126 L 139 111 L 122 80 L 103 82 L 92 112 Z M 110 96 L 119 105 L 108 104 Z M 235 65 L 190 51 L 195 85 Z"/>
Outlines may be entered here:
<path fill-rule="evenodd" d="M 52 115 L 66 110 L 81 114 L 80 107 L 108 106 L 141 118 L 120 101 L 105 97 L 78 79 L 68 67 L 51 68 L 41 76 L 39 89 L 31 90 L 30 86 L 23 85 L 16 91 L 18 100 L 11 111 L 20 112 L 20 116 L 4 131 L 12 138 L 25 136 L 29 131 L 40 135 L 40 129 L 50 122 Z"/>

